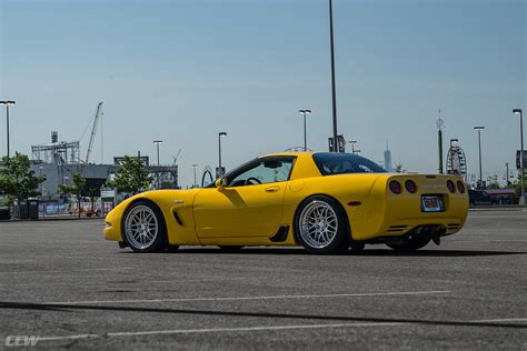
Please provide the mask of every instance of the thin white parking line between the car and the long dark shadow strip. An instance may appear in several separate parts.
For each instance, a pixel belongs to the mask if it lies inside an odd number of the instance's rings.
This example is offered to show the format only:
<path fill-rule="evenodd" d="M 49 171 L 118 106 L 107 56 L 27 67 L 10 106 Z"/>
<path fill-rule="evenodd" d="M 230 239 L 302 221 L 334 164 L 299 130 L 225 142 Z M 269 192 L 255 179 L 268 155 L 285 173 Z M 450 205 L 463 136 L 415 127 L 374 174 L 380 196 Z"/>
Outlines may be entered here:
<path fill-rule="evenodd" d="M 243 300 L 285 300 L 285 299 L 327 299 L 327 298 L 359 298 L 359 297 L 389 297 L 389 295 L 424 295 L 445 294 L 448 290 L 435 291 L 398 291 L 398 292 L 364 292 L 364 293 L 334 293 L 305 295 L 268 295 L 268 297 L 227 297 L 227 298 L 181 298 L 181 299 L 139 299 L 139 300 L 95 300 L 44 302 L 42 304 L 110 304 L 110 303 L 159 303 L 159 302 L 193 302 L 193 301 L 243 301 Z"/>

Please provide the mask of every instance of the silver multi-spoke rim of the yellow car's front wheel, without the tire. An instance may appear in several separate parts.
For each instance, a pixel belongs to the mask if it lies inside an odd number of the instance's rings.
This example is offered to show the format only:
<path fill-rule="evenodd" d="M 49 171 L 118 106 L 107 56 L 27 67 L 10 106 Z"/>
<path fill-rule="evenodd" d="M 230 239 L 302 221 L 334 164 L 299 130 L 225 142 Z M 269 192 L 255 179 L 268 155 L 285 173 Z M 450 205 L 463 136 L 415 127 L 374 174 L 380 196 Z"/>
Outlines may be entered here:
<path fill-rule="evenodd" d="M 132 208 L 125 220 L 125 234 L 135 249 L 150 248 L 159 234 L 159 222 L 153 210 L 145 204 Z"/>

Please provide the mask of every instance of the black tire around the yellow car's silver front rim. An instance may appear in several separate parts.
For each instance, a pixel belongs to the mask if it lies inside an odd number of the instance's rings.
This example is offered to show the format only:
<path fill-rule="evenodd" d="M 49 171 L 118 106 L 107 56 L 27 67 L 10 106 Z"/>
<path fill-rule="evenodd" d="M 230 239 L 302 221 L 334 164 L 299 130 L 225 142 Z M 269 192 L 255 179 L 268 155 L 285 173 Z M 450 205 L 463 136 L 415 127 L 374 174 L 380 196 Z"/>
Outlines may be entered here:
<path fill-rule="evenodd" d="M 137 229 L 139 227 L 139 223 L 136 225 L 135 230 L 130 225 L 127 227 L 127 223 L 130 224 L 130 221 L 133 221 L 132 217 L 137 215 L 137 212 L 139 211 L 145 211 L 146 213 L 151 214 L 155 218 L 155 223 L 157 225 L 157 230 L 153 234 L 153 238 L 148 241 L 148 244 L 143 245 L 141 245 L 141 239 L 138 239 L 143 238 L 141 233 L 138 233 L 138 231 L 140 231 L 139 229 Z M 161 210 L 159 210 L 159 208 L 152 202 L 138 201 L 132 203 L 122 217 L 121 228 L 122 239 L 125 240 L 126 244 L 136 252 L 161 252 L 165 251 L 167 247 L 167 224 L 165 222 L 165 218 L 161 213 Z"/>

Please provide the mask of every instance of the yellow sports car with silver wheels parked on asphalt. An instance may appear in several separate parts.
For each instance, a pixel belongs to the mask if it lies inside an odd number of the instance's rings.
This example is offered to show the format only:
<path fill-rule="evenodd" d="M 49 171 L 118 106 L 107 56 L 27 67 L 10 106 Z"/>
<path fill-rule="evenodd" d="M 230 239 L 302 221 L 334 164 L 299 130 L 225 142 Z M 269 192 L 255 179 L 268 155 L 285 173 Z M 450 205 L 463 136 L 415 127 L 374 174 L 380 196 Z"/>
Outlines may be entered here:
<path fill-rule="evenodd" d="M 349 153 L 284 152 L 207 188 L 129 198 L 107 215 L 105 237 L 138 252 L 302 245 L 332 253 L 375 243 L 411 251 L 459 231 L 467 212 L 458 176 L 387 173 Z"/>

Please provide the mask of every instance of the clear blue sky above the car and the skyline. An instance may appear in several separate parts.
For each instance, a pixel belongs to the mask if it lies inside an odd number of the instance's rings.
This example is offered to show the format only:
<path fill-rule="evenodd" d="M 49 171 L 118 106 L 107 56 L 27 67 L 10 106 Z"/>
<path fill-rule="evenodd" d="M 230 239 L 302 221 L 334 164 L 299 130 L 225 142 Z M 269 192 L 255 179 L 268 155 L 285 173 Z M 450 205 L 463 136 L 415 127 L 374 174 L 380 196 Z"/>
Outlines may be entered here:
<path fill-rule="evenodd" d="M 515 168 L 527 110 L 526 0 L 334 0 L 338 132 L 361 154 L 437 172 L 438 110 L 449 139 L 484 178 Z M 92 162 L 113 156 L 178 159 L 227 169 L 332 133 L 326 0 L 0 0 L 0 99 L 11 152 L 30 153 L 53 130 L 81 140 L 103 101 Z M 4 109 L 0 153 L 6 153 Z M 525 121 L 527 124 L 527 120 Z M 527 129 L 524 128 L 524 130 Z M 102 142 L 101 142 L 102 137 Z M 527 140 L 527 132 L 526 132 Z M 102 151 L 102 152 L 101 152 Z"/>

